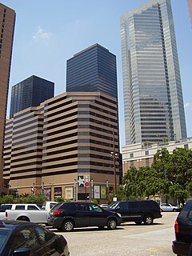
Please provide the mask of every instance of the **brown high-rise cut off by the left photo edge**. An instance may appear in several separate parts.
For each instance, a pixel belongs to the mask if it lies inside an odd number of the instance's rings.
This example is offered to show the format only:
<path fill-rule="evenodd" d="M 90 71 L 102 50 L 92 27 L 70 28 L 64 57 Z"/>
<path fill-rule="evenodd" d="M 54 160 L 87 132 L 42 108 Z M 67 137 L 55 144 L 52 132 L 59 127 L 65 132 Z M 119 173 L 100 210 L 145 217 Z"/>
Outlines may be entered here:
<path fill-rule="evenodd" d="M 10 82 L 10 62 L 14 39 L 15 12 L 0 3 L 0 195 L 5 193 L 2 179 L 2 148 L 6 122 L 7 94 Z"/>

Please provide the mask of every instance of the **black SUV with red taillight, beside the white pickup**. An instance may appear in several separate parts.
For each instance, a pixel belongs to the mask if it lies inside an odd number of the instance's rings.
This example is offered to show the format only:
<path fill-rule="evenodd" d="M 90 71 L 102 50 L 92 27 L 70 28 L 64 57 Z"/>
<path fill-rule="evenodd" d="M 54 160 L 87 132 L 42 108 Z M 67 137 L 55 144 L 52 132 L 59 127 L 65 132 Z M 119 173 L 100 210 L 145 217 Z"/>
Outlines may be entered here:
<path fill-rule="evenodd" d="M 83 226 L 107 226 L 114 230 L 121 222 L 121 214 L 106 211 L 91 202 L 60 202 L 50 210 L 51 226 L 63 231 L 72 231 L 74 227 Z"/>

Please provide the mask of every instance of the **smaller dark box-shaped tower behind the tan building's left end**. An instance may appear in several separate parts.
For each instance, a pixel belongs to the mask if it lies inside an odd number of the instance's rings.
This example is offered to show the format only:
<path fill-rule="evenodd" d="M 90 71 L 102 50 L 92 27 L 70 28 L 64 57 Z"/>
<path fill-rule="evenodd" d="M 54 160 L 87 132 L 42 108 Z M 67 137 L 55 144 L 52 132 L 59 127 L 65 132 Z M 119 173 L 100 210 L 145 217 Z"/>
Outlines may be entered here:
<path fill-rule="evenodd" d="M 54 97 L 54 82 L 32 75 L 12 86 L 10 118 L 29 106 L 38 106 L 48 98 Z"/>

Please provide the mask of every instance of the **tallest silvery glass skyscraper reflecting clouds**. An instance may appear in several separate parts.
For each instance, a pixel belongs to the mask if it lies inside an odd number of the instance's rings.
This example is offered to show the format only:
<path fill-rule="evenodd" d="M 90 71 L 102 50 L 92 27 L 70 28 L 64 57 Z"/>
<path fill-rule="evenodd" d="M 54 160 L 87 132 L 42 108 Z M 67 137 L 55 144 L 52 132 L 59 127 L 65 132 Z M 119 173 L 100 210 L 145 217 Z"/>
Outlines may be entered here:
<path fill-rule="evenodd" d="M 170 0 L 122 15 L 121 39 L 126 145 L 186 138 Z"/>

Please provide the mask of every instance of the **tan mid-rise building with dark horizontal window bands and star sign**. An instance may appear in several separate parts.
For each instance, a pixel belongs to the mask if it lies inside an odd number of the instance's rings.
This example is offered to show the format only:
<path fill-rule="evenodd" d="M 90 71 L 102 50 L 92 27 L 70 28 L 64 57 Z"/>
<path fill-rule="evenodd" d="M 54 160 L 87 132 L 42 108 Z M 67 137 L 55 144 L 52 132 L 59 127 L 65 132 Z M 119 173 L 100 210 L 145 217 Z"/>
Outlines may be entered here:
<path fill-rule="evenodd" d="M 11 193 L 106 202 L 119 184 L 111 152 L 118 152 L 117 99 L 67 92 L 7 120 L 3 177 Z"/>

